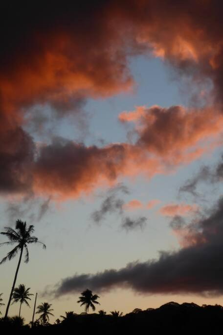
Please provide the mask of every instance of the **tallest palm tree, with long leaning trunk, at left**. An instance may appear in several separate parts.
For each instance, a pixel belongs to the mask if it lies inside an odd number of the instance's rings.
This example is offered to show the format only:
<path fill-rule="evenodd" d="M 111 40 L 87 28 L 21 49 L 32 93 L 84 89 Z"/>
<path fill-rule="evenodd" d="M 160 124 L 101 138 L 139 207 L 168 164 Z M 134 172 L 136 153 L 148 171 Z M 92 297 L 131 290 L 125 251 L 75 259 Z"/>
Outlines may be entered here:
<path fill-rule="evenodd" d="M 5 311 L 5 316 L 4 318 L 7 318 L 8 315 L 8 310 L 9 310 L 9 306 L 11 304 L 11 300 L 12 300 L 12 294 L 15 288 L 15 284 L 16 284 L 16 279 L 17 279 L 17 275 L 18 275 L 18 271 L 19 271 L 19 267 L 20 267 L 20 263 L 21 263 L 21 259 L 22 259 L 22 252 L 23 249 L 25 249 L 25 263 L 28 263 L 29 261 L 29 252 L 28 252 L 28 247 L 27 244 L 31 244 L 31 243 L 41 243 L 43 244 L 44 249 L 46 248 L 45 244 L 43 242 L 38 241 L 38 238 L 35 236 L 31 236 L 31 234 L 34 232 L 34 228 L 33 226 L 29 226 L 28 228 L 26 228 L 26 222 L 23 222 L 21 220 L 17 220 L 16 221 L 16 229 L 12 229 L 10 227 L 4 227 L 5 232 L 1 232 L 2 235 L 6 235 L 9 239 L 8 242 L 4 242 L 4 243 L 0 243 L 1 245 L 13 245 L 14 243 L 17 243 L 17 245 L 15 246 L 15 248 L 13 248 L 6 257 L 2 258 L 0 264 L 4 263 L 6 260 L 11 260 L 12 258 L 14 258 L 17 253 L 20 251 L 20 258 L 19 258 L 19 262 L 17 265 L 17 269 L 16 269 L 16 274 L 15 274 L 15 278 L 14 278 L 14 282 L 12 284 L 12 289 L 11 289 L 11 293 L 9 296 L 9 300 L 8 300 L 8 305 Z"/>

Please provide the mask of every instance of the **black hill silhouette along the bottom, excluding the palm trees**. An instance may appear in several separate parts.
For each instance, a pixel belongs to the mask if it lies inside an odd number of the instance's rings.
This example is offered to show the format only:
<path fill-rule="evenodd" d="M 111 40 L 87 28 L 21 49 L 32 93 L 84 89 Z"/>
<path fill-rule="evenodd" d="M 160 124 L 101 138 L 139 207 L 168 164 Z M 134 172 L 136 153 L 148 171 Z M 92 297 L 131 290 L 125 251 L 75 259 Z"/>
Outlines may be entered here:
<path fill-rule="evenodd" d="M 66 316 L 71 311 L 66 312 Z M 121 314 L 121 313 L 119 313 Z M 16 334 L 220 334 L 223 328 L 223 306 L 169 302 L 157 309 L 134 309 L 124 316 L 102 313 L 72 313 L 54 324 L 28 325 L 13 318 L 0 321 L 0 332 Z"/>

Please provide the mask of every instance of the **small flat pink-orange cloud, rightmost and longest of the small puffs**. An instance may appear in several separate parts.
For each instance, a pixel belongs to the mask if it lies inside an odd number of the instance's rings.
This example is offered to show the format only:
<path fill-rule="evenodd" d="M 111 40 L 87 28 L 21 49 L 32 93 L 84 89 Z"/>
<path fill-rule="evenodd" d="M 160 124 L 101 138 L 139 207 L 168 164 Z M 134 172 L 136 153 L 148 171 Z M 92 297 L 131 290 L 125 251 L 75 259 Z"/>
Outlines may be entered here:
<path fill-rule="evenodd" d="M 197 205 L 169 204 L 160 208 L 159 212 L 165 216 L 189 215 L 198 210 Z"/>

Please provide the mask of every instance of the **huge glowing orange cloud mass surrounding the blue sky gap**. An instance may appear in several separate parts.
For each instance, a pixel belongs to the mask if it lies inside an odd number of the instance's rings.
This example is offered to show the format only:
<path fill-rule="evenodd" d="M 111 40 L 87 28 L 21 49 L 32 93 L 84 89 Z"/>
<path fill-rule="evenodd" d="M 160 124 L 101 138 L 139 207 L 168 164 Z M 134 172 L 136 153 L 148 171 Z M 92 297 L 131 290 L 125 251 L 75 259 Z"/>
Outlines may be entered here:
<path fill-rule="evenodd" d="M 55 2 L 53 11 L 50 3 L 44 9 L 38 3 L 33 10 L 30 1 L 22 11 L 20 3 L 13 10 L 4 3 L 0 11 L 1 192 L 34 189 L 75 197 L 122 176 L 171 173 L 221 143 L 219 3 L 175 2 L 173 6 L 163 0 L 83 1 L 79 6 L 73 1 L 62 7 Z M 61 140 L 37 149 L 22 129 L 26 112 L 37 103 L 48 104 L 63 116 L 76 112 L 75 102 L 80 99 L 129 91 L 134 84 L 130 56 L 148 52 L 189 75 L 199 92 L 208 80 L 207 97 L 202 100 L 199 95 L 204 107 L 138 106 L 125 111 L 119 120 L 134 122 L 136 141 L 103 148 Z"/>

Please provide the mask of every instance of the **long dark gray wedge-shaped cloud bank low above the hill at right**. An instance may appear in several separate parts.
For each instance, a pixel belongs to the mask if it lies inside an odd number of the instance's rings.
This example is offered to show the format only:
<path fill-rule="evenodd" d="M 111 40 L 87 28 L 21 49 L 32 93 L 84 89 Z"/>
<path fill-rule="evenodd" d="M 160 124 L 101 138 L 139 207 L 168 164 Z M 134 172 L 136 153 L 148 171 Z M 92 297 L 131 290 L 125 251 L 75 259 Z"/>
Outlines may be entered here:
<path fill-rule="evenodd" d="M 75 274 L 47 291 L 56 296 L 95 292 L 115 287 L 132 288 L 138 293 L 223 294 L 223 199 L 209 215 L 188 226 L 188 246 L 176 252 L 160 252 L 158 259 L 132 262 L 119 270 L 96 274 Z"/>

